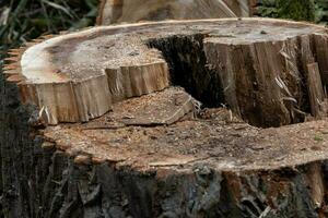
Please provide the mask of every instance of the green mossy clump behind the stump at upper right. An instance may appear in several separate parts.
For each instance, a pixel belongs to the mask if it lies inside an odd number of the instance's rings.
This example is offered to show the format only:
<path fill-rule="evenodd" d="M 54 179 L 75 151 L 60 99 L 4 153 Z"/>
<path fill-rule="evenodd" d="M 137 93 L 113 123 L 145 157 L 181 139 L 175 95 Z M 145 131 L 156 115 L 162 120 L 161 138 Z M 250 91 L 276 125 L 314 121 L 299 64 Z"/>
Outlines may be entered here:
<path fill-rule="evenodd" d="M 278 0 L 278 16 L 295 21 L 315 21 L 314 0 Z"/>

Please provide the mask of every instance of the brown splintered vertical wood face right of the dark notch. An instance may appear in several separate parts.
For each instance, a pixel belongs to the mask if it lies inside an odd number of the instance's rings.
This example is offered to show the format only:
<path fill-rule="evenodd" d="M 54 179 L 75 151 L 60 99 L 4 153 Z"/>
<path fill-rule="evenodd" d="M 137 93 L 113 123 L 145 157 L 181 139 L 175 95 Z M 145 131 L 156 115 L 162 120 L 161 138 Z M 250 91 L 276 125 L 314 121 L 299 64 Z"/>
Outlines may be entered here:
<path fill-rule="evenodd" d="M 210 62 L 219 60 L 216 68 L 222 69 L 220 76 L 227 105 L 248 122 L 280 126 L 304 120 L 307 94 L 302 77 L 307 78 L 312 114 L 327 116 L 311 35 L 241 45 L 221 44 L 216 39 L 207 43 L 207 52 L 214 58 Z M 260 119 L 257 111 L 262 114 Z"/>

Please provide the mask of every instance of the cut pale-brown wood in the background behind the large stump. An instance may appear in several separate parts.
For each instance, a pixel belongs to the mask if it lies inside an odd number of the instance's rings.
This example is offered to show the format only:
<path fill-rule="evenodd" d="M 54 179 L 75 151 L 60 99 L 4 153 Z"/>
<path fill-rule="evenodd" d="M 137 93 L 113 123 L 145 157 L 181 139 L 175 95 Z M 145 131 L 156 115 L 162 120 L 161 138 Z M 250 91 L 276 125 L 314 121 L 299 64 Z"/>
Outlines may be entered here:
<path fill-rule="evenodd" d="M 249 16 L 250 0 L 102 0 L 98 25 L 140 21 Z"/>

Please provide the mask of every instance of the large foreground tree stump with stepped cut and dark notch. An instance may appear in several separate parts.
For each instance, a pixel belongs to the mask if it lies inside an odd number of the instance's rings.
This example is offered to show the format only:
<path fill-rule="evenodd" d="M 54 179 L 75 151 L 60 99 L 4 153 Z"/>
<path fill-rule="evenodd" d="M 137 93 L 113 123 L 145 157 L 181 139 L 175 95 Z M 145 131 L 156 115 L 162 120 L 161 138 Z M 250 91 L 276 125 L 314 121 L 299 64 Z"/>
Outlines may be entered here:
<path fill-rule="evenodd" d="M 327 40 L 321 26 L 226 19 L 94 27 L 11 51 L 4 214 L 327 216 Z"/>

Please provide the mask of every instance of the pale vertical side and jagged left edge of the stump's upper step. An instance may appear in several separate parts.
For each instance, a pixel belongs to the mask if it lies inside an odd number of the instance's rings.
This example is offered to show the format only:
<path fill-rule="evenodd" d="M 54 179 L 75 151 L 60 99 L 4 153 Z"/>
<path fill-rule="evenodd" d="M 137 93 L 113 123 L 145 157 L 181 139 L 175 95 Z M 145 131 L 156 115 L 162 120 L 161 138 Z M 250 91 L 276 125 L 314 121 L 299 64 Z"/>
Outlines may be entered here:
<path fill-rule="evenodd" d="M 141 72 L 140 76 L 143 76 L 143 74 L 148 76 L 145 80 L 142 80 L 145 84 L 136 84 L 136 88 L 128 93 L 126 89 L 118 90 L 122 93 L 119 99 L 115 99 L 117 93 L 115 93 L 113 88 L 109 88 L 117 84 L 109 86 L 109 76 L 106 72 L 103 75 L 79 82 L 67 81 L 36 84 L 28 82 L 26 76 L 22 73 L 20 62 L 24 52 L 39 43 L 60 37 L 63 34 L 66 34 L 66 32 L 60 33 L 60 35 L 42 36 L 33 41 L 26 43 L 19 49 L 11 49 L 8 52 L 9 58 L 5 59 L 3 74 L 7 81 L 15 83 L 19 86 L 23 104 L 34 104 L 38 106 L 39 109 L 43 109 L 40 118 L 47 124 L 56 125 L 59 122 L 87 122 L 109 111 L 113 102 L 162 90 L 169 85 L 168 66 L 164 60 L 162 62 L 159 61 L 138 66 L 120 66 L 119 71 L 126 69 L 125 71 L 128 76 L 136 71 Z M 159 77 L 159 75 L 162 77 Z M 153 84 L 149 87 L 147 83 L 150 83 L 153 78 L 156 78 L 155 81 L 160 80 L 161 83 Z M 131 83 L 132 82 L 137 83 L 137 81 L 131 81 Z M 119 81 L 119 83 L 124 84 L 124 80 Z"/>

